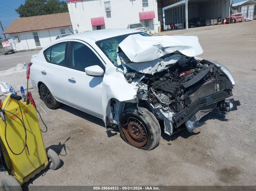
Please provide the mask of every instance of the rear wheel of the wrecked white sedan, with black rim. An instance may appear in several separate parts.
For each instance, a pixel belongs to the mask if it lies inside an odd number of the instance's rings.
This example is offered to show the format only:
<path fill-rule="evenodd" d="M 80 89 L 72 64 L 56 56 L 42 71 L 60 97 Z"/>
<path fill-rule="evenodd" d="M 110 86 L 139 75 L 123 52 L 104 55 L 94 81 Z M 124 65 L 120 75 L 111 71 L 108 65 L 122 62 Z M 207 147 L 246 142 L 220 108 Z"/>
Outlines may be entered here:
<path fill-rule="evenodd" d="M 45 84 L 40 85 L 40 92 L 42 99 L 45 102 L 45 105 L 50 109 L 55 109 L 61 106 L 61 103 L 55 100 L 55 98 L 52 96 L 52 93 L 50 90 L 46 87 Z"/>

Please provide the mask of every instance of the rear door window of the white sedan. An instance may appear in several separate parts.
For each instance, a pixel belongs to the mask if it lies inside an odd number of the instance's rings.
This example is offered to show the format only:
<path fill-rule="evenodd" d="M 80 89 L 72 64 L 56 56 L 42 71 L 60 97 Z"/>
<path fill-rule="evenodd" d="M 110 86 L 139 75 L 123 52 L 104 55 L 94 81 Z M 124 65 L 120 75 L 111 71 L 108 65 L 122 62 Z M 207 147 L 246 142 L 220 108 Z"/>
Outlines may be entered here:
<path fill-rule="evenodd" d="M 45 59 L 47 60 L 47 62 L 64 66 L 65 65 L 65 49 L 66 49 L 66 42 L 55 44 L 45 50 L 44 52 Z"/>

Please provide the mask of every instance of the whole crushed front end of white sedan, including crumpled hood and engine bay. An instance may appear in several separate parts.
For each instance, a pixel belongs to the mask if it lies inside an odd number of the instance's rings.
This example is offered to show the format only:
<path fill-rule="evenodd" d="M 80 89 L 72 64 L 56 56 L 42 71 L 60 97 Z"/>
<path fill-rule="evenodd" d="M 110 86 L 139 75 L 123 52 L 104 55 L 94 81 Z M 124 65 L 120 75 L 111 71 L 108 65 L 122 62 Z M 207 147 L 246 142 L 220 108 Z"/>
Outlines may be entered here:
<path fill-rule="evenodd" d="M 227 68 L 209 60 L 196 59 L 203 53 L 193 36 L 125 38 L 117 50 L 117 71 L 135 85 L 140 107 L 162 120 L 165 133 L 172 135 L 185 124 L 188 131 L 201 126 L 199 120 L 214 109 L 237 110 L 232 96 L 234 78 Z"/>

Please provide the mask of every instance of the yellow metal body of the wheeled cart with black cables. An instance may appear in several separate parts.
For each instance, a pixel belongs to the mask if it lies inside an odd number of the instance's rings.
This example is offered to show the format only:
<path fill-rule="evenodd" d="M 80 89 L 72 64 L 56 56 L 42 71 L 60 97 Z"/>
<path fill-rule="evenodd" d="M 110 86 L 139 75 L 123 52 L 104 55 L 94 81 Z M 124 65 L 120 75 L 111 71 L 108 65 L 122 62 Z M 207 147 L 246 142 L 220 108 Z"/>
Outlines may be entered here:
<path fill-rule="evenodd" d="M 8 102 L 7 102 L 8 101 Z M 5 104 L 7 103 L 6 107 Z M 19 109 L 19 105 L 21 111 Z M 29 179 L 34 177 L 37 173 L 45 169 L 48 165 L 48 158 L 45 151 L 45 145 L 40 130 L 36 110 L 34 106 L 26 102 L 17 101 L 10 98 L 10 95 L 6 97 L 2 103 L 2 109 L 8 110 L 20 119 L 24 119 L 26 131 L 27 131 L 27 145 L 29 150 L 25 150 L 20 155 L 14 155 L 9 150 L 5 141 L 5 123 L 0 118 L 0 141 L 2 143 L 5 161 L 9 170 L 9 175 L 15 177 L 18 182 L 22 185 Z M 22 113 L 21 113 L 22 112 Z M 14 153 L 19 153 L 25 144 L 25 131 L 21 121 L 11 113 L 5 113 L 5 119 L 7 123 L 6 137 Z"/>

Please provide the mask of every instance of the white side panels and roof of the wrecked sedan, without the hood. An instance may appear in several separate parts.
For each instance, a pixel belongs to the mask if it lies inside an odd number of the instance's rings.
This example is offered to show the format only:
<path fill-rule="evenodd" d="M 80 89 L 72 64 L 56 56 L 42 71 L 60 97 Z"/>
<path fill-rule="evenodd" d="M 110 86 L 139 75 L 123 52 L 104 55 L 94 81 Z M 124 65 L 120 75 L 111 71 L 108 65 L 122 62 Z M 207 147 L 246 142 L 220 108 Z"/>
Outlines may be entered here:
<path fill-rule="evenodd" d="M 99 49 L 95 41 L 136 32 L 138 31 L 132 29 L 90 31 L 68 35 L 53 41 L 48 46 L 45 46 L 36 57 L 31 59 L 33 65 L 30 78 L 33 87 L 38 90 L 37 84 L 42 82 L 48 87 L 57 101 L 101 118 L 105 122 L 109 100 L 115 98 L 119 101 L 130 100 L 134 102 L 138 88 L 135 84 L 128 84 L 123 73 L 116 71 L 116 67 Z M 86 75 L 85 72 L 48 63 L 44 58 L 43 52 L 48 47 L 65 41 L 79 41 L 89 44 L 93 52 L 106 65 L 104 77 L 91 77 Z M 42 75 L 41 71 L 45 71 L 47 74 Z M 77 81 L 75 85 L 69 83 L 68 78 L 74 78 Z M 87 81 L 87 84 L 85 81 Z M 92 91 L 94 92 L 91 93 Z M 90 94 L 88 94 L 89 92 Z"/>

